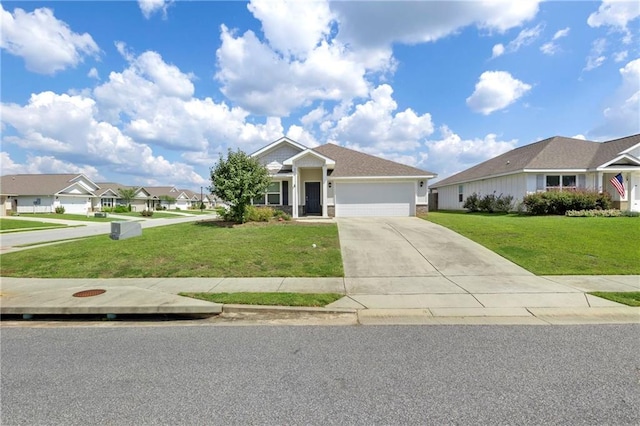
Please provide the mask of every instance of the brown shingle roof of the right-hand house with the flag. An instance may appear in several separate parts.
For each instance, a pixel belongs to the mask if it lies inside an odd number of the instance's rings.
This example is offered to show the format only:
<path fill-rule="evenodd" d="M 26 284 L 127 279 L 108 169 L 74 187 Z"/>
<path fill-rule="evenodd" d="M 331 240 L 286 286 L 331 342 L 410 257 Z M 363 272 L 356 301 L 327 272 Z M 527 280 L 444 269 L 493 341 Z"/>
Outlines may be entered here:
<path fill-rule="evenodd" d="M 554 136 L 521 146 L 477 164 L 431 185 L 438 188 L 470 182 L 489 176 L 518 173 L 526 169 L 570 170 L 598 167 L 613 160 L 621 151 L 640 143 L 640 135 L 609 142 Z"/>

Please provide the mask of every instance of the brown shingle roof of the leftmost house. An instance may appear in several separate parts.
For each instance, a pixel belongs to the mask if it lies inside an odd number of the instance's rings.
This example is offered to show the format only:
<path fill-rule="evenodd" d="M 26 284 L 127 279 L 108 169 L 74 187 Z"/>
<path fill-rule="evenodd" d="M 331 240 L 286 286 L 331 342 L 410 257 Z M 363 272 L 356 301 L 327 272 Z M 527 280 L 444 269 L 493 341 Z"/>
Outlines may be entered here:
<path fill-rule="evenodd" d="M 24 174 L 0 177 L 0 194 L 53 195 L 73 185 L 72 180 L 82 176 L 74 174 Z"/>

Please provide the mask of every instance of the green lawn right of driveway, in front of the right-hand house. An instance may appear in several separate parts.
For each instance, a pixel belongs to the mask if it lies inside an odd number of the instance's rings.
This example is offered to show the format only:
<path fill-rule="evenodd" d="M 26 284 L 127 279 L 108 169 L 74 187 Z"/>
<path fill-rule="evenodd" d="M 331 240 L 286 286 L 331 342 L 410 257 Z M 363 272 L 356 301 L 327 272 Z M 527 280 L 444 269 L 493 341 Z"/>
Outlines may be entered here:
<path fill-rule="evenodd" d="M 425 217 L 536 275 L 640 274 L 640 219 L 430 212 Z"/>

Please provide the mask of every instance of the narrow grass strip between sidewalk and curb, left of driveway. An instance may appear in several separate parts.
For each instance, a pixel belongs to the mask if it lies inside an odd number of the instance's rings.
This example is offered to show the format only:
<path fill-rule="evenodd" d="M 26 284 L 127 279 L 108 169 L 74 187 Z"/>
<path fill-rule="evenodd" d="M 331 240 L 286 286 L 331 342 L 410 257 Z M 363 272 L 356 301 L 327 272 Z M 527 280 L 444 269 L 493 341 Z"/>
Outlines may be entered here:
<path fill-rule="evenodd" d="M 207 302 L 234 305 L 324 307 L 342 298 L 338 293 L 180 293 Z"/>

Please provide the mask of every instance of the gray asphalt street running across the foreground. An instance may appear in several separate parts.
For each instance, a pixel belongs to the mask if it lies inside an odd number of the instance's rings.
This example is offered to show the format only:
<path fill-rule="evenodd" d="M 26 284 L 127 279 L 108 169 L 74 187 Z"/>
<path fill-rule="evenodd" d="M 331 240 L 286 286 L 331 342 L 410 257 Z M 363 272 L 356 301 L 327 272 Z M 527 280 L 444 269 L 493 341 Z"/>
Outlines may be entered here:
<path fill-rule="evenodd" d="M 4 328 L 0 423 L 635 425 L 638 331 Z"/>

